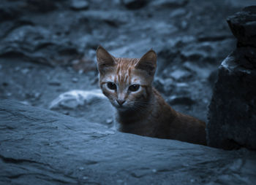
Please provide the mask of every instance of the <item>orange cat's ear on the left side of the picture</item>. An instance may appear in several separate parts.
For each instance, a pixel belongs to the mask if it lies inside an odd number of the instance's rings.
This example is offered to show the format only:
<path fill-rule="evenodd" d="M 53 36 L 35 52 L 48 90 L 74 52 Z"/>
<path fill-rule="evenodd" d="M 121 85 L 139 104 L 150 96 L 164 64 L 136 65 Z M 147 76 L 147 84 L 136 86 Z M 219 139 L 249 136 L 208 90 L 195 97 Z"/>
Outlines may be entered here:
<path fill-rule="evenodd" d="M 102 46 L 97 48 L 97 66 L 100 74 L 104 74 L 108 68 L 115 66 L 115 58 L 110 55 Z"/>

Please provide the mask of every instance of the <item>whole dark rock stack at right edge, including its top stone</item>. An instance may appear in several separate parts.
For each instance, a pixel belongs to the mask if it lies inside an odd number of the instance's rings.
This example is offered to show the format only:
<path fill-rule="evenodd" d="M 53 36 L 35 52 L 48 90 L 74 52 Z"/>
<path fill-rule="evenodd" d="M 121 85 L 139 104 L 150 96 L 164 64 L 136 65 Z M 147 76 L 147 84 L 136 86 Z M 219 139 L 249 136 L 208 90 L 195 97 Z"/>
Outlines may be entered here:
<path fill-rule="evenodd" d="M 228 18 L 238 48 L 219 67 L 208 112 L 208 144 L 256 149 L 256 6 Z"/>

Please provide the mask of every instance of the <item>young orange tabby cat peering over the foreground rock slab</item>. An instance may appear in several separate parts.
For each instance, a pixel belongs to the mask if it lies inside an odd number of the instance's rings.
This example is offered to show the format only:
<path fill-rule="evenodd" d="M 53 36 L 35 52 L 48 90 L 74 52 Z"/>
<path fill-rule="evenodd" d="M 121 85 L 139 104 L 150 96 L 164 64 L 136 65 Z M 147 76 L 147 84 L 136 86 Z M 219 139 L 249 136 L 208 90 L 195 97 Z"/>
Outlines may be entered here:
<path fill-rule="evenodd" d="M 142 58 L 115 58 L 97 48 L 99 86 L 116 108 L 118 130 L 154 138 L 206 145 L 206 124 L 172 109 L 152 87 L 157 53 Z"/>

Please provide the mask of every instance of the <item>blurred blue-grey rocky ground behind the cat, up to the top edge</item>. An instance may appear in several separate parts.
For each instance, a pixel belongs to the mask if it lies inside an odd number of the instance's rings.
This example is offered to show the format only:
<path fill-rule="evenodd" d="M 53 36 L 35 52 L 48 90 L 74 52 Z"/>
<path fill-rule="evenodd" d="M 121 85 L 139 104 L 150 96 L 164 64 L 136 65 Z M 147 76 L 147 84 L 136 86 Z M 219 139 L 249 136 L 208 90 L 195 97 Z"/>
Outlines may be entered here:
<path fill-rule="evenodd" d="M 226 18 L 255 0 L 1 0 L 0 99 L 109 127 L 95 50 L 158 55 L 154 87 L 174 109 L 207 120 L 217 68 L 236 48 Z M 108 111 L 106 111 L 108 110 Z"/>

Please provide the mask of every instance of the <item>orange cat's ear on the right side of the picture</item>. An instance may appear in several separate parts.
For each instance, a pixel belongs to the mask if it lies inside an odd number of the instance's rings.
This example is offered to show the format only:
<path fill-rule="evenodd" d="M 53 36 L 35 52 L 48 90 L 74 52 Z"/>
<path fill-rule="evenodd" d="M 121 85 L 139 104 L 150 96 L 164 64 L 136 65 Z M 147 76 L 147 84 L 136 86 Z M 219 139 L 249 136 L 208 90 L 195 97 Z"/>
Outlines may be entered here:
<path fill-rule="evenodd" d="M 138 63 L 136 63 L 135 68 L 144 70 L 148 72 L 149 75 L 154 75 L 157 69 L 157 53 L 152 49 L 146 52 Z"/>

